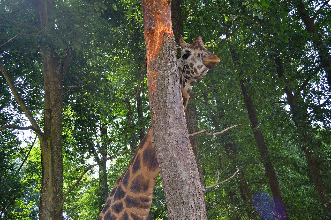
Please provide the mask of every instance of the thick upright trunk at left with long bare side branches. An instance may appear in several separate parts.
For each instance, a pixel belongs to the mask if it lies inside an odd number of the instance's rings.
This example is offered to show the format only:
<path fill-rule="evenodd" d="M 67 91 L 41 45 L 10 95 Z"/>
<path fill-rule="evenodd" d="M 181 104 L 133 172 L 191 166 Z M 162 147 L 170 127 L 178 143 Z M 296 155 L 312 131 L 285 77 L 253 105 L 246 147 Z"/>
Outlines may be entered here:
<path fill-rule="evenodd" d="M 40 28 L 44 33 L 48 23 L 48 16 L 52 13 L 52 1 L 31 1 L 40 17 Z M 51 45 L 42 47 L 42 63 L 44 72 L 45 112 L 44 134 L 51 139 L 40 142 L 42 183 L 39 204 L 39 219 L 62 219 L 62 96 L 63 76 L 65 70 L 60 72 L 58 54 Z"/>

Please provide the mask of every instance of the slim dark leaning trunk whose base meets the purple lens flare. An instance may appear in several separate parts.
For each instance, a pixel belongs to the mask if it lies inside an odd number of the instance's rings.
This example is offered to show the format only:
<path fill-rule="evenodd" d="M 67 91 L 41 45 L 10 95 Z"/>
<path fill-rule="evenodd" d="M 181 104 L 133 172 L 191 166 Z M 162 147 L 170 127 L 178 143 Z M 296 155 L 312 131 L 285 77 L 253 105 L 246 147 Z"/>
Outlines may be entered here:
<path fill-rule="evenodd" d="M 235 51 L 234 51 L 233 46 L 230 46 L 230 52 L 231 52 L 231 56 L 233 59 L 233 63 L 239 67 L 240 63 L 235 58 Z M 261 158 L 263 161 L 263 166 L 264 166 L 265 172 L 266 172 L 268 180 L 269 180 L 270 190 L 271 190 L 272 196 L 274 197 L 275 208 L 279 215 L 278 218 L 287 220 L 288 217 L 287 217 L 287 212 L 286 212 L 286 208 L 285 208 L 285 202 L 282 197 L 279 182 L 277 179 L 277 174 L 276 174 L 276 171 L 275 171 L 272 163 L 268 159 L 269 158 L 268 149 L 265 145 L 262 132 L 259 128 L 259 120 L 257 117 L 257 113 L 255 111 L 255 108 L 254 108 L 253 101 L 247 93 L 247 88 L 245 86 L 245 80 L 244 80 L 242 70 L 239 71 L 239 78 L 240 78 L 240 87 L 242 90 L 242 94 L 244 96 L 244 102 L 246 104 L 247 113 L 248 113 L 249 119 L 251 121 L 254 139 L 258 146 L 258 150 L 260 152 L 260 155 L 261 155 Z"/>

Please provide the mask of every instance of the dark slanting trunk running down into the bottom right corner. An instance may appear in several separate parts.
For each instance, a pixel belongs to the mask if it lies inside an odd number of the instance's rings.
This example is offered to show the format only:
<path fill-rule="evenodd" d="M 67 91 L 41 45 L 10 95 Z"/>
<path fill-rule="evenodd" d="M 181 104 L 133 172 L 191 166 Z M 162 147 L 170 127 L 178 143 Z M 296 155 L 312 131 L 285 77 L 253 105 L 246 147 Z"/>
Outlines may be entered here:
<path fill-rule="evenodd" d="M 277 65 L 277 74 L 280 80 L 283 80 L 284 84 L 287 84 L 284 87 L 287 101 L 291 108 L 292 120 L 296 125 L 297 131 L 301 136 L 302 149 L 305 153 L 307 164 L 309 167 L 309 172 L 311 179 L 314 183 L 314 187 L 317 193 L 318 200 L 322 205 L 322 209 L 325 217 L 330 217 L 329 212 L 331 212 L 331 204 L 328 198 L 327 192 L 325 190 L 322 176 L 320 175 L 320 169 L 318 167 L 318 162 L 316 161 L 311 147 L 318 147 L 318 141 L 314 141 L 314 137 L 311 137 L 309 134 L 309 128 L 307 127 L 307 118 L 305 105 L 303 103 L 298 103 L 298 96 L 293 95 L 292 88 L 289 86 L 289 82 L 284 76 L 284 67 L 282 61 L 278 55 L 274 55 L 274 61 Z M 316 143 L 316 145 L 311 144 Z M 313 146 L 310 146 L 313 145 Z"/>

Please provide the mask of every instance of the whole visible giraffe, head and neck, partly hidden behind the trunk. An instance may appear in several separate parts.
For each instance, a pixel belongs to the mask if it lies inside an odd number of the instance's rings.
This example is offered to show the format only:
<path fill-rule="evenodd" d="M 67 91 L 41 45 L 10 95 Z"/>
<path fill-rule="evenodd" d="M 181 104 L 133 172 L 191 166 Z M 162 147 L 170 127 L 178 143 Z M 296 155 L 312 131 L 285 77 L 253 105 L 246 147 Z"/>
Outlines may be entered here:
<path fill-rule="evenodd" d="M 177 42 L 181 46 L 181 57 L 177 64 L 185 109 L 194 82 L 202 79 L 220 59 L 205 48 L 201 36 L 196 37 L 192 44 L 186 43 L 181 37 L 177 38 Z M 148 220 L 159 173 L 153 128 L 150 126 L 137 153 L 109 194 L 98 220 Z"/>

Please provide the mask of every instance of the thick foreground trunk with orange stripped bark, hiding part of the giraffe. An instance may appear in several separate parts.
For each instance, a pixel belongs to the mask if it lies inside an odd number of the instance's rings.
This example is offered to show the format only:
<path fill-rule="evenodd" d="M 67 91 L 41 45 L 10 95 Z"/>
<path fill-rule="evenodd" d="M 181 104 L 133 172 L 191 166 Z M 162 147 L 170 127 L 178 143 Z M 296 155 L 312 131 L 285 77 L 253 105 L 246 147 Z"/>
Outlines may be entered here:
<path fill-rule="evenodd" d="M 170 3 L 142 1 L 154 144 L 169 219 L 207 219 L 179 87 Z"/>

